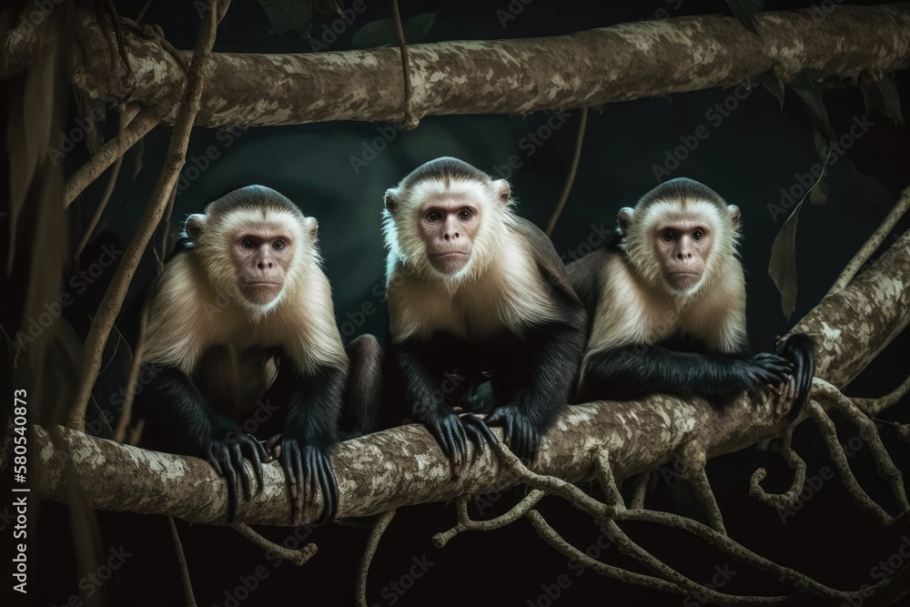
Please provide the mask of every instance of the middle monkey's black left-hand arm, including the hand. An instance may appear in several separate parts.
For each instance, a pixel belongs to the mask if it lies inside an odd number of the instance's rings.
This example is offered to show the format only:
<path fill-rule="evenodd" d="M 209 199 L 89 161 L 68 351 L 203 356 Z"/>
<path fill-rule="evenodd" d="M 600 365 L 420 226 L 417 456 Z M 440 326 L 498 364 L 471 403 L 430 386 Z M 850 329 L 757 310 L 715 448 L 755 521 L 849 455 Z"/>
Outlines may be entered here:
<path fill-rule="evenodd" d="M 458 478 L 467 464 L 468 440 L 476 450 L 483 440 L 496 442 L 496 437 L 482 420 L 471 415 L 459 416 L 440 394 L 439 379 L 434 379 L 424 360 L 433 359 L 432 342 L 410 339 L 389 347 L 389 356 L 398 367 L 405 385 L 405 400 L 410 402 L 414 417 L 420 420 L 452 464 L 452 477 Z"/>

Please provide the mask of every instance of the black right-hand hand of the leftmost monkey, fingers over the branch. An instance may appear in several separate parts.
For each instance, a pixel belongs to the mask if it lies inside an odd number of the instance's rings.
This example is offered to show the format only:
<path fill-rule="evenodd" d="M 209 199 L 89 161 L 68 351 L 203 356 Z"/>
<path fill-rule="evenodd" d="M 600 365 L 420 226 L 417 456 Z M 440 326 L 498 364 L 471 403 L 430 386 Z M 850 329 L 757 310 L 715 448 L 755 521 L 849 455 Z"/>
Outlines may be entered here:
<path fill-rule="evenodd" d="M 288 475 L 292 517 L 299 521 L 304 506 L 316 496 L 316 485 L 322 491 L 323 508 L 316 524 L 334 521 L 339 511 L 339 484 L 329 455 L 319 445 L 277 434 L 268 440 L 268 450 Z"/>

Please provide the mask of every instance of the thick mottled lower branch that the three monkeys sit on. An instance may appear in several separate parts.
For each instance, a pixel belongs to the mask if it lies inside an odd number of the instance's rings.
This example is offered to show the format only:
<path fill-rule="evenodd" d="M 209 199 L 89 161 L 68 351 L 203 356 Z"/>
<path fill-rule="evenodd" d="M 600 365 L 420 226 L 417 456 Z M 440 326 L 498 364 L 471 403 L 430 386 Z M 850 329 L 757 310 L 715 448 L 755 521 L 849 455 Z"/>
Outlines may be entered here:
<path fill-rule="evenodd" d="M 794 330 L 817 340 L 817 377 L 843 389 L 908 322 L 910 232 L 847 288 L 824 298 Z M 781 436 L 785 430 L 783 422 L 773 420 L 767 401 L 755 406 L 739 400 L 723 415 L 701 400 L 664 396 L 589 403 L 561 414 L 544 440 L 535 469 L 571 482 L 590 479 L 599 454 L 607 450 L 613 474 L 622 480 L 655 469 L 687 445 L 698 444 L 714 457 Z M 74 430 L 60 432 L 72 449 L 76 478 L 95 508 L 224 521 L 225 484 L 207 462 L 124 447 Z M 45 430 L 35 429 L 32 448 L 33 470 L 41 473 L 35 490 L 47 499 L 66 501 L 63 456 Z M 449 501 L 514 484 L 514 476 L 490 450 L 458 481 L 450 481 L 449 462 L 418 425 L 343 442 L 332 462 L 339 480 L 341 517 Z M 238 521 L 291 524 L 283 472 L 277 463 L 264 468 L 265 489 L 253 501 L 241 501 Z M 320 510 L 317 501 L 307 511 L 307 521 Z"/>

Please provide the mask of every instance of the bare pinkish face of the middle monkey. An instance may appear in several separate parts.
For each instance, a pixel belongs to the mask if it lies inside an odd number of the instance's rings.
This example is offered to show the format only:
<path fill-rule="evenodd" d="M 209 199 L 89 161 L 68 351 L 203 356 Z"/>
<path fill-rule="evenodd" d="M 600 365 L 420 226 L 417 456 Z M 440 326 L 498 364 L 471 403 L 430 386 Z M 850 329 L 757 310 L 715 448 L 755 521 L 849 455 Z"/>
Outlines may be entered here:
<path fill-rule="evenodd" d="M 470 197 L 430 198 L 420 206 L 415 220 L 433 268 L 441 274 L 454 275 L 468 265 L 480 228 L 480 207 Z"/>

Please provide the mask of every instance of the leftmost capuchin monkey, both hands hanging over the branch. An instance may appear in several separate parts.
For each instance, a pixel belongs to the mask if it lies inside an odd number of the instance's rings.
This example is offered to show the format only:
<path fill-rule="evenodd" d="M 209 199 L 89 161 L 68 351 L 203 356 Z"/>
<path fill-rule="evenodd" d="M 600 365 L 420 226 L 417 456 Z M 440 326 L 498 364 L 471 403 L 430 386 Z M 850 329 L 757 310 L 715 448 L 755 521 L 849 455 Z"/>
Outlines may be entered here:
<path fill-rule="evenodd" d="M 225 477 L 228 522 L 238 506 L 237 476 L 250 499 L 244 457 L 259 491 L 266 457 L 235 422 L 253 412 L 279 369 L 290 398 L 266 448 L 288 475 L 295 518 L 317 485 L 325 504 L 319 523 L 335 518 L 329 450 L 339 441 L 346 390 L 344 430 L 378 426 L 381 349 L 369 336 L 342 346 L 316 232 L 316 219 L 275 190 L 234 190 L 187 218 L 147 299 L 142 365 L 152 379 L 142 410 L 169 435 L 168 450 L 207 460 Z"/>

